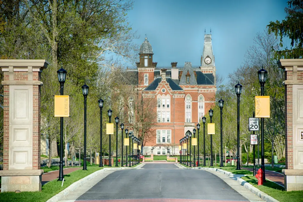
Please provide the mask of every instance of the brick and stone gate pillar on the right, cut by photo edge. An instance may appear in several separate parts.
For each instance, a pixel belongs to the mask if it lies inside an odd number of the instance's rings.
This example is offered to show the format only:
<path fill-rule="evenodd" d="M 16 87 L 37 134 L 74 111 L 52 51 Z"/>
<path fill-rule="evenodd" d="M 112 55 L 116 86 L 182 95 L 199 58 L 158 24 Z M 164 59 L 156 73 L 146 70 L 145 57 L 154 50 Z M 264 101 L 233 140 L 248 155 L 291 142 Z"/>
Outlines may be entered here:
<path fill-rule="evenodd" d="M 285 72 L 285 190 L 303 190 L 303 59 L 280 59 Z"/>

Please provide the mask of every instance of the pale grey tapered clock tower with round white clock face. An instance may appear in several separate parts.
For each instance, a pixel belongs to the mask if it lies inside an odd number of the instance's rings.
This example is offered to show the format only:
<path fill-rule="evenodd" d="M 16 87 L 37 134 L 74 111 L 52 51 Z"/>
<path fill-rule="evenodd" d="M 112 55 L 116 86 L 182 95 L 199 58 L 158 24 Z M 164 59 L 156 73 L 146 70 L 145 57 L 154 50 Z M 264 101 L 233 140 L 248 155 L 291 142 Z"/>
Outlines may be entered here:
<path fill-rule="evenodd" d="M 215 56 L 212 51 L 211 34 L 204 35 L 204 46 L 201 56 L 200 70 L 202 73 L 212 73 L 214 75 L 216 83 Z"/>

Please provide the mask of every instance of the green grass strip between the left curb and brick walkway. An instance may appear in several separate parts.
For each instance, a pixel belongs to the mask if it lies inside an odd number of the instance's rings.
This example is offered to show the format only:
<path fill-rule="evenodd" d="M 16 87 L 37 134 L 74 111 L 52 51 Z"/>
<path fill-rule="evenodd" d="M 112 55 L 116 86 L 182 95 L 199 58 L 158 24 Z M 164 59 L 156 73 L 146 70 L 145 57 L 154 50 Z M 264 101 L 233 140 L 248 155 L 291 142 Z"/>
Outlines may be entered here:
<path fill-rule="evenodd" d="M 3 192 L 0 193 L 0 201 L 41 201 L 44 202 L 51 197 L 55 196 L 72 183 L 94 173 L 102 168 L 99 167 L 88 167 L 87 170 L 76 170 L 72 173 L 64 176 L 64 184 L 61 187 L 62 181 L 52 180 L 42 186 L 42 191 L 39 192 Z"/>

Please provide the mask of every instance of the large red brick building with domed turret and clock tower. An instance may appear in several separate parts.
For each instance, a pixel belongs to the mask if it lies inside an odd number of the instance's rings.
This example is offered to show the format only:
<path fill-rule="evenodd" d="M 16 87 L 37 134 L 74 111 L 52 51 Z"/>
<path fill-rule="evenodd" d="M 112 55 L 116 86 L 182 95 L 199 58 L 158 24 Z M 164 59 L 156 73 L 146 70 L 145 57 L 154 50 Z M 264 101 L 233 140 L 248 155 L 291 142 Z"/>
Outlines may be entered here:
<path fill-rule="evenodd" d="M 179 140 L 192 131 L 215 103 L 216 67 L 211 35 L 205 34 L 201 65 L 185 62 L 177 66 L 157 67 L 147 38 L 142 43 L 137 67 L 128 68 L 138 75 L 138 88 L 144 99 L 156 99 L 155 138 L 145 142 L 143 154 L 179 154 Z M 173 145 L 175 143 L 175 145 Z"/>

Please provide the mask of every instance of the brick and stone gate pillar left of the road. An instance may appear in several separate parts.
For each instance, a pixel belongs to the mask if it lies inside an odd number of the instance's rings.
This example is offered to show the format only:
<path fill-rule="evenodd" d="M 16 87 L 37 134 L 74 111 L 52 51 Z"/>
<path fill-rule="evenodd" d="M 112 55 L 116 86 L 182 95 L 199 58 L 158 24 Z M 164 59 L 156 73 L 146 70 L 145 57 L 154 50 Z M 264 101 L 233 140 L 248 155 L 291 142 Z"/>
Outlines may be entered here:
<path fill-rule="evenodd" d="M 4 73 L 2 192 L 41 191 L 40 88 L 45 60 L 0 60 Z"/>

